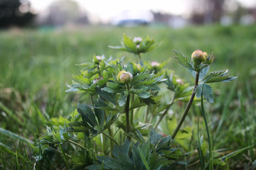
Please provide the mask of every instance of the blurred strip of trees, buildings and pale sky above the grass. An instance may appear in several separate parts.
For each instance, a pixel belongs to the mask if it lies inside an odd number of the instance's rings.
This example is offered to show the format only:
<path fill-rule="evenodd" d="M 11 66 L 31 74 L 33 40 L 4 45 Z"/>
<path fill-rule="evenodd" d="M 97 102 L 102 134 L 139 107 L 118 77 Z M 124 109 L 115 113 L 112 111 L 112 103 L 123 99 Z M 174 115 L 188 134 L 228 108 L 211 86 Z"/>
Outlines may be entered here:
<path fill-rule="evenodd" d="M 1 0 L 0 27 L 251 25 L 254 0 Z"/>

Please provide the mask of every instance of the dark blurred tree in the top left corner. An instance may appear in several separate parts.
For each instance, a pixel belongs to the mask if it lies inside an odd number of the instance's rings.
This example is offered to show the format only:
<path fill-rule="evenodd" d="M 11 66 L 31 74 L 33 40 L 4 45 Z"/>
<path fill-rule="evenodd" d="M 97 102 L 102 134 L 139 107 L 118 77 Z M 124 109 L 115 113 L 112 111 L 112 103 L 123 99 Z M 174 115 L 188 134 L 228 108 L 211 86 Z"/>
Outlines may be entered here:
<path fill-rule="evenodd" d="M 0 28 L 28 26 L 35 16 L 30 9 L 27 0 L 0 0 Z"/>

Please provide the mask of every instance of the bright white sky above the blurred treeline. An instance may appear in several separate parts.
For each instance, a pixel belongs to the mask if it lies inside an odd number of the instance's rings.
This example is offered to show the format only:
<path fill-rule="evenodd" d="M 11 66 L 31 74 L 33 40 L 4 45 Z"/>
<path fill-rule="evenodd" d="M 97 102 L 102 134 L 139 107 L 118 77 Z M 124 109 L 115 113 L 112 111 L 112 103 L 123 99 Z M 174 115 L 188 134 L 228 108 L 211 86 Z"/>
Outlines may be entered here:
<path fill-rule="evenodd" d="M 30 0 L 32 7 L 40 12 L 45 10 L 56 0 Z M 161 11 L 175 15 L 184 15 L 191 5 L 190 0 L 73 0 L 78 2 L 82 8 L 90 12 L 92 16 L 101 21 L 110 21 L 122 11 L 144 10 Z M 242 5 L 256 6 L 255 0 L 238 0 Z"/>

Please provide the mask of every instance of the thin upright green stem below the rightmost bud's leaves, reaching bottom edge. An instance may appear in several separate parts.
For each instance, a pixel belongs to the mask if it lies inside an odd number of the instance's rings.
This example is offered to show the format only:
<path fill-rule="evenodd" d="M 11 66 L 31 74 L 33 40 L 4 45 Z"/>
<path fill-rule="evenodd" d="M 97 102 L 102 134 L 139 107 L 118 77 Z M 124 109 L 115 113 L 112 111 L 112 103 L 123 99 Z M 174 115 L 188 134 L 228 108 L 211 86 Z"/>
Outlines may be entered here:
<path fill-rule="evenodd" d="M 205 125 L 206 125 L 206 132 L 207 132 L 207 137 L 208 137 L 209 160 L 210 160 L 209 169 L 213 170 L 213 147 L 212 147 L 211 141 L 210 141 L 210 132 L 209 132 L 208 123 L 207 123 L 207 119 L 206 119 L 206 113 L 205 113 L 204 108 L 203 108 L 203 94 L 201 94 L 201 107 L 202 107 L 203 120 L 204 120 Z"/>

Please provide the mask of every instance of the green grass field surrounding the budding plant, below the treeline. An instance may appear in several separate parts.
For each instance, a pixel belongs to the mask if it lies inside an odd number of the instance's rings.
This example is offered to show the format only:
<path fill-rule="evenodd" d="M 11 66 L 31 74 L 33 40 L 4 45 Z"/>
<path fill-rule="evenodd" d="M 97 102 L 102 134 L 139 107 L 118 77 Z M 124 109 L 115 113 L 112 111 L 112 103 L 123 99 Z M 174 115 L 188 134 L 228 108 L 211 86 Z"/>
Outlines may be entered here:
<path fill-rule="evenodd" d="M 212 70 L 229 69 L 230 75 L 238 76 L 228 84 L 215 84 L 215 103 L 206 104 L 213 149 L 223 149 L 223 154 L 238 151 L 227 160 L 230 169 L 256 167 L 256 26 L 193 26 L 181 30 L 88 26 L 0 32 L 0 169 L 31 169 L 37 154 L 28 143 L 36 142 L 46 132 L 44 113 L 49 118 L 65 117 L 78 102 L 88 100 L 82 94 L 65 92 L 73 74 L 82 69 L 75 64 L 91 62 L 95 54 L 107 58 L 124 55 L 125 61 L 135 60 L 129 53 L 108 47 L 119 45 L 123 33 L 129 37 L 149 35 L 161 42 L 159 48 L 142 55 L 142 60 L 164 62 L 171 58 L 165 67 L 191 84 L 191 74 L 177 64 L 173 49 L 188 58 L 197 49 L 213 52 Z M 199 108 L 193 106 L 183 126 L 196 128 L 198 112 Z"/>

